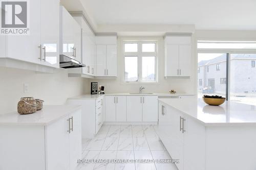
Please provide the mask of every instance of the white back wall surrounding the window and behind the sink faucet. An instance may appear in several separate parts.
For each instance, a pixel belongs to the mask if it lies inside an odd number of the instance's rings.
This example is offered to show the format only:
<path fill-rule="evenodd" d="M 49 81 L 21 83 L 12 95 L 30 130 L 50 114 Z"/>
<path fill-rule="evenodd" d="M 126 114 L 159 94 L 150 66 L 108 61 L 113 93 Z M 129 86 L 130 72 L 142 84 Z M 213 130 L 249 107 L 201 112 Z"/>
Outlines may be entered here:
<path fill-rule="evenodd" d="M 94 79 L 90 80 L 93 82 L 98 82 L 99 85 L 105 86 L 106 93 L 117 93 L 117 92 L 138 92 L 140 86 L 146 87 L 143 92 L 159 92 L 159 93 L 168 93 L 171 89 L 176 90 L 177 92 L 185 92 L 189 94 L 195 93 L 195 51 L 191 56 L 191 77 L 184 78 L 164 78 L 164 41 L 163 37 L 155 37 L 159 39 L 158 43 L 158 84 L 137 84 L 129 85 L 129 83 L 124 84 L 122 82 L 122 75 L 124 74 L 124 61 L 122 55 L 122 39 L 124 37 L 118 37 L 118 51 L 117 51 L 117 78 L 116 79 Z M 129 38 L 128 38 L 129 39 Z M 139 39 L 143 39 L 140 37 Z M 154 39 L 154 37 L 152 37 Z M 194 39 L 194 38 L 193 38 Z M 194 40 L 193 40 L 194 42 Z M 195 44 L 192 44 L 192 49 L 195 49 Z"/>

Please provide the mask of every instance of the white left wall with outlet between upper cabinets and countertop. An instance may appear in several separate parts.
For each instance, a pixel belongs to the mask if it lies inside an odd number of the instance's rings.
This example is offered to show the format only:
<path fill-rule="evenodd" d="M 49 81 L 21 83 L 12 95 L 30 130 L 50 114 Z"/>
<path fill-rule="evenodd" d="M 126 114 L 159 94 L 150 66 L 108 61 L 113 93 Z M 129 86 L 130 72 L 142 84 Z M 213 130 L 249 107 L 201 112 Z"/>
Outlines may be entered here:
<path fill-rule="evenodd" d="M 33 96 L 46 105 L 62 105 L 67 98 L 89 93 L 87 79 L 68 78 L 67 69 L 56 69 L 53 74 L 37 74 L 15 68 L 0 67 L 0 114 L 17 110 L 21 97 Z M 24 93 L 24 83 L 29 92 Z"/>

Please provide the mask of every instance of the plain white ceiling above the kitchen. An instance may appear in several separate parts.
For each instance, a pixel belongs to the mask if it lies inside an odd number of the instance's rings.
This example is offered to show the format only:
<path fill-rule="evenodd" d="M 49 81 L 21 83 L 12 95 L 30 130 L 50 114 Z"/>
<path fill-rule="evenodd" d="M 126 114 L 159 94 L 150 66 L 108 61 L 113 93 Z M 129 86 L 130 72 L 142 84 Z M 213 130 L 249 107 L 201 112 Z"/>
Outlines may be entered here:
<path fill-rule="evenodd" d="M 97 25 L 195 25 L 256 30 L 256 0 L 80 0 Z"/>

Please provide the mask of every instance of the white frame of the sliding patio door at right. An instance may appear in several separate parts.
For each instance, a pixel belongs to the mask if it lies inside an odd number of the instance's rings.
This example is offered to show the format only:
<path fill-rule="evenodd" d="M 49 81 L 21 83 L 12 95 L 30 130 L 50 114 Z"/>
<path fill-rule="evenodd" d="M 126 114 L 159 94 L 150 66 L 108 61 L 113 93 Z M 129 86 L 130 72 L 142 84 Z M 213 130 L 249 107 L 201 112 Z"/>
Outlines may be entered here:
<path fill-rule="evenodd" d="M 231 61 L 231 54 L 256 54 L 256 49 L 254 48 L 246 48 L 246 49 L 241 49 L 241 48 L 197 48 L 197 42 L 199 41 L 208 41 L 208 40 L 213 40 L 213 41 L 223 41 L 220 39 L 196 39 L 196 51 L 197 51 L 197 57 L 196 60 L 198 59 L 198 54 L 199 53 L 225 53 L 227 54 L 227 62 L 226 62 L 226 101 L 229 101 L 230 99 L 230 61 Z M 236 40 L 230 40 L 230 41 L 236 41 Z M 245 40 L 246 41 L 253 41 L 253 40 Z M 197 75 L 197 74 L 196 74 Z M 198 76 L 196 76 L 196 82 L 198 81 Z M 197 83 L 198 84 L 198 83 Z M 198 87 L 196 86 L 196 95 L 198 95 Z"/>

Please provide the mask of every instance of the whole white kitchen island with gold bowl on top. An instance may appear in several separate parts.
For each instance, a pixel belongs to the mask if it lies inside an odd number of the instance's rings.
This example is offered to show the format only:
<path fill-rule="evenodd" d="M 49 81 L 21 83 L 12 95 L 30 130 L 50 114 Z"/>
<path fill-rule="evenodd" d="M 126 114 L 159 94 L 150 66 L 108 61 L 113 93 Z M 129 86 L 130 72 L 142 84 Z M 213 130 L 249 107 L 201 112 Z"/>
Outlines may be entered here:
<path fill-rule="evenodd" d="M 159 137 L 179 170 L 256 169 L 256 106 L 158 99 Z"/>

